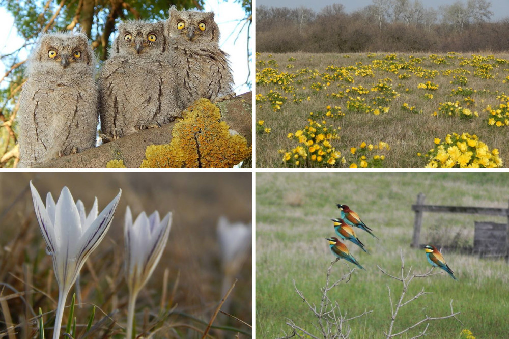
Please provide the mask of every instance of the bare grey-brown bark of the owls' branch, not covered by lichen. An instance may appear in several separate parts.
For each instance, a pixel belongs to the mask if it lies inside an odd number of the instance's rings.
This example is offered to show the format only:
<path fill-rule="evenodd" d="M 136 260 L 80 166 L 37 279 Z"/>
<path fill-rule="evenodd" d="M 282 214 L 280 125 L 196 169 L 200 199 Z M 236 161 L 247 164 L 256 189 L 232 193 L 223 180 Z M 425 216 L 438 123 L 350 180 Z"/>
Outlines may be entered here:
<path fill-rule="evenodd" d="M 217 103 L 221 120 L 252 143 L 251 92 Z M 40 168 L 106 168 L 108 161 L 123 160 L 127 168 L 139 168 L 150 145 L 169 144 L 175 122 L 147 129 L 77 154 L 48 161 Z"/>

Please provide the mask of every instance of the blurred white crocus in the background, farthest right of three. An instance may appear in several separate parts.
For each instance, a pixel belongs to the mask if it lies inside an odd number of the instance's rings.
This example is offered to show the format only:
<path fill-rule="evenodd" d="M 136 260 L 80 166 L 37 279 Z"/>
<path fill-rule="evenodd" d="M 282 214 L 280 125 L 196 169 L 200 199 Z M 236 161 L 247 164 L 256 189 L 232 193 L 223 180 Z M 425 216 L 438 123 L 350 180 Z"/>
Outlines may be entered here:
<path fill-rule="evenodd" d="M 217 235 L 221 245 L 224 273 L 221 294 L 224 296 L 232 286 L 251 248 L 251 225 L 242 222 L 230 223 L 222 216 L 217 223 Z M 223 304 L 225 312 L 228 312 L 229 306 L 230 299 L 227 299 Z"/>

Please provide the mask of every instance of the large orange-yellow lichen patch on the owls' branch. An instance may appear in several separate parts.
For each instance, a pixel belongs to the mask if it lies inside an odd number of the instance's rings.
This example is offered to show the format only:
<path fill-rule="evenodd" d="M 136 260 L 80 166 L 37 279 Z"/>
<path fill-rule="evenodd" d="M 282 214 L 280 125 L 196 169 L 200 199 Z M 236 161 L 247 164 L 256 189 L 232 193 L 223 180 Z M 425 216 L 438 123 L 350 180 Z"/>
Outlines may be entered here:
<path fill-rule="evenodd" d="M 219 108 L 200 99 L 183 112 L 169 145 L 151 145 L 140 168 L 231 168 L 251 155 L 241 135 L 231 135 Z"/>

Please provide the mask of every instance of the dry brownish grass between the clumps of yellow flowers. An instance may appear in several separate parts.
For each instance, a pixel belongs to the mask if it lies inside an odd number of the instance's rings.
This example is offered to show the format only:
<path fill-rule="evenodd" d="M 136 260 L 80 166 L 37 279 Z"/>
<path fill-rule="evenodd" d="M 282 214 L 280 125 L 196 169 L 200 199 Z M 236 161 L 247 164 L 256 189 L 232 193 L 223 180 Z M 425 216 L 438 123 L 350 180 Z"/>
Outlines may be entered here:
<path fill-rule="evenodd" d="M 495 105 L 497 103 L 497 93 L 507 93 L 508 84 L 502 83 L 502 80 L 509 75 L 509 65 L 496 65 L 492 71 L 495 74 L 494 79 L 482 79 L 473 75 L 474 67 L 462 66 L 471 72 L 466 75 L 468 83 L 463 88 L 472 87 L 477 93 L 471 95 L 474 99 L 474 105 L 469 106 L 472 111 L 477 111 L 479 118 L 470 120 L 460 120 L 459 118 L 443 118 L 433 117 L 433 112 L 438 110 L 439 102 L 463 100 L 463 96 L 451 96 L 451 90 L 456 89 L 458 84 L 450 84 L 453 74 L 442 75 L 442 72 L 448 69 L 459 68 L 460 59 L 445 58 L 447 64 L 435 64 L 429 59 L 429 54 L 414 54 L 415 57 L 423 58 L 421 66 L 424 69 L 436 70 L 440 72 L 435 78 L 420 78 L 413 73 L 408 79 L 399 79 L 398 75 L 405 72 L 400 70 L 399 74 L 385 72 L 374 69 L 375 75 L 371 76 L 354 76 L 354 83 L 344 80 L 330 81 L 330 85 L 326 89 L 315 91 L 311 88 L 313 83 L 321 82 L 325 84 L 327 81 L 322 80 L 327 66 L 335 67 L 371 65 L 373 60 L 383 60 L 388 53 L 377 53 L 376 56 L 368 57 L 366 53 L 362 54 L 310 54 L 310 53 L 286 53 L 286 54 L 268 54 L 262 53 L 257 56 L 257 73 L 265 67 L 275 68 L 274 65 L 260 65 L 260 61 L 275 60 L 278 64 L 276 70 L 278 72 L 289 72 L 295 74 L 301 69 L 309 68 L 316 70 L 319 74 L 314 79 L 309 76 L 299 75 L 294 80 L 293 86 L 296 87 L 293 93 L 285 93 L 279 84 L 259 84 L 257 83 L 257 95 L 267 95 L 270 90 L 277 91 L 286 96 L 288 101 L 281 105 L 281 109 L 274 112 L 269 102 L 257 102 L 256 119 L 264 120 L 265 127 L 271 128 L 270 134 L 258 133 L 257 135 L 257 167 L 273 168 L 285 167 L 282 162 L 282 155 L 278 154 L 279 149 L 291 150 L 297 143 L 295 140 L 287 138 L 287 134 L 303 129 L 307 124 L 310 112 L 326 111 L 326 107 L 330 105 L 340 106 L 344 117 L 334 117 L 329 119 L 335 127 L 341 127 L 340 140 L 336 140 L 333 146 L 340 150 L 343 155 L 349 153 L 351 147 L 358 147 L 362 142 L 367 144 L 377 144 L 379 141 L 386 142 L 390 145 L 390 151 L 384 151 L 381 154 L 386 155 L 384 161 L 385 167 L 392 168 L 418 168 L 426 164 L 426 159 L 418 157 L 417 153 L 425 154 L 428 150 L 435 146 L 434 138 L 444 139 L 449 133 L 476 134 L 480 140 L 486 143 L 490 149 L 497 148 L 500 151 L 500 157 L 504 162 L 504 167 L 509 164 L 509 141 L 507 137 L 507 128 L 488 126 L 488 114 L 483 112 L 488 104 Z M 397 53 L 397 60 L 401 57 L 409 60 L 410 54 Z M 488 53 L 483 54 L 484 56 Z M 439 55 L 445 57 L 445 55 Z M 471 58 L 471 54 L 463 54 L 466 58 Z M 507 54 L 497 54 L 496 58 L 508 59 Z M 295 58 L 289 61 L 289 58 Z M 495 63 L 493 61 L 493 63 Z M 293 65 L 293 68 L 287 68 L 287 65 Z M 353 73 L 353 72 L 352 72 Z M 407 71 L 408 73 L 408 71 Z M 392 88 L 397 91 L 400 96 L 394 98 L 389 104 L 389 112 L 381 113 L 378 116 L 374 114 L 366 114 L 364 112 L 349 111 L 347 109 L 348 95 L 343 98 L 331 97 L 330 94 L 339 91 L 345 91 L 350 86 L 362 85 L 367 89 L 371 89 L 379 79 L 392 79 Z M 297 83 L 298 80 L 302 80 Z M 418 89 L 419 83 L 432 81 L 438 84 L 436 91 L 428 91 Z M 305 87 L 305 90 L 303 89 Z M 410 92 L 406 92 L 409 89 Z M 487 90 L 487 93 L 480 91 Z M 498 91 L 498 92 L 497 92 Z M 424 97 L 425 93 L 433 94 L 433 99 L 429 100 Z M 327 96 L 329 95 L 329 96 Z M 370 93 L 363 97 L 377 96 L 377 93 Z M 296 98 L 304 98 L 301 103 L 294 103 Z M 357 95 L 351 95 L 356 97 Z M 310 97 L 310 100 L 307 100 Z M 369 101 L 369 100 L 367 100 Z M 416 110 L 421 110 L 420 114 L 413 114 L 402 109 L 403 103 L 415 106 Z M 499 102 L 498 102 L 499 103 Z M 338 164 L 342 166 L 341 164 Z M 343 165 L 344 166 L 344 165 Z"/>

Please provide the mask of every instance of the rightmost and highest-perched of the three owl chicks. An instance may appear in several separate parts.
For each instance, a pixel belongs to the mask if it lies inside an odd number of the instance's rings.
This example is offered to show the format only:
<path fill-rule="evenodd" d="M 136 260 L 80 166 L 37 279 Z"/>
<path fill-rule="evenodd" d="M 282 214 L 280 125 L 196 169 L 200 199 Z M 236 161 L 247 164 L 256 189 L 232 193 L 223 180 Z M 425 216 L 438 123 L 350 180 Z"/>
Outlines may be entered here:
<path fill-rule="evenodd" d="M 235 96 L 228 54 L 219 48 L 214 13 L 178 11 L 172 6 L 166 32 L 180 109 L 200 98 L 218 101 L 224 96 Z"/>

